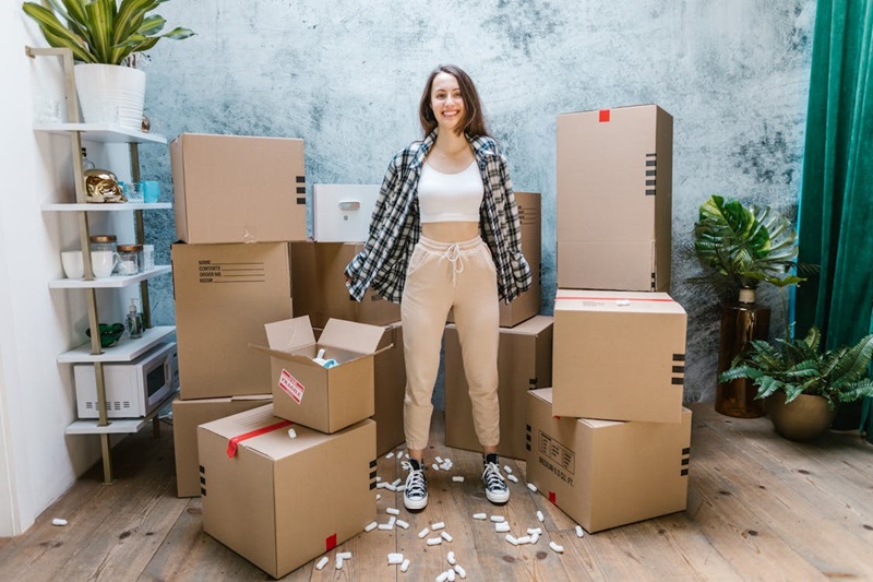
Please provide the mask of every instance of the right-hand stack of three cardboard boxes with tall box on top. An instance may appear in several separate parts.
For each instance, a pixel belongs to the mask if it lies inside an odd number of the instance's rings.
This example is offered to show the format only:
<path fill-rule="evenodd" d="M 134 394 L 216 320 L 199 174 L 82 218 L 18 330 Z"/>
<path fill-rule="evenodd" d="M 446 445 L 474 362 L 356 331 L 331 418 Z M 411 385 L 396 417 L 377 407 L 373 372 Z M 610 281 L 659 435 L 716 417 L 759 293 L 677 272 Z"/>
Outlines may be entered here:
<path fill-rule="evenodd" d="M 527 396 L 527 479 L 589 532 L 686 504 L 671 158 L 660 107 L 558 117 L 553 378 Z"/>

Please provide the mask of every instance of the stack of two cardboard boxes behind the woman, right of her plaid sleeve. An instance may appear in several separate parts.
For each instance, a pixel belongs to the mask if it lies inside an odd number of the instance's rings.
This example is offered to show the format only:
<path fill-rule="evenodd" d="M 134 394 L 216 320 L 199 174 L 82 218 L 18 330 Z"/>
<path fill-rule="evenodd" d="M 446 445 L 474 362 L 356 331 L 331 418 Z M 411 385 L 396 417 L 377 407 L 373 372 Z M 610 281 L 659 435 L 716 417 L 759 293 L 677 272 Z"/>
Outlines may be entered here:
<path fill-rule="evenodd" d="M 522 226 L 522 252 L 530 264 L 534 284 L 511 304 L 500 305 L 498 376 L 500 446 L 503 456 L 524 459 L 527 391 L 552 382 L 552 318 L 539 316 L 541 275 L 541 197 L 515 192 Z M 481 451 L 473 425 L 473 407 L 457 329 L 450 313 L 445 328 L 445 443 Z"/>

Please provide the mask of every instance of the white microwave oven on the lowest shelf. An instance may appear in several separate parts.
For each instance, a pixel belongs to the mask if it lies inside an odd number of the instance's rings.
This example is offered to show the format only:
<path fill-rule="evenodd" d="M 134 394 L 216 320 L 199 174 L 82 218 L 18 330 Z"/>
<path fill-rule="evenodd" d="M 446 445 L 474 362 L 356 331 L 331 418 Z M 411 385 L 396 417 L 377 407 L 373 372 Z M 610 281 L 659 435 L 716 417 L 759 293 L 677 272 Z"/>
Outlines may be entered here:
<path fill-rule="evenodd" d="M 80 418 L 98 418 L 97 381 L 92 364 L 73 366 L 75 402 Z M 108 418 L 147 416 L 179 388 L 176 342 L 132 361 L 103 365 Z"/>

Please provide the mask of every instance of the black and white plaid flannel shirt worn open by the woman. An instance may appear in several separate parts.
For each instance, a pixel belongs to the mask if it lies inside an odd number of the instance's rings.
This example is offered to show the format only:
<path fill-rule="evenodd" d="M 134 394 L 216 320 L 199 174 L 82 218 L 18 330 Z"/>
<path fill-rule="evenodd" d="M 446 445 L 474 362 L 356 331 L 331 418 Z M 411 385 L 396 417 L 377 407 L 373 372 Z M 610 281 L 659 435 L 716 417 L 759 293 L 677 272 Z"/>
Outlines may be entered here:
<path fill-rule="evenodd" d="M 400 302 L 406 268 L 421 237 L 418 180 L 424 158 L 436 141 L 436 132 L 434 130 L 423 141 L 414 142 L 398 152 L 388 165 L 373 209 L 367 244 L 345 270 L 349 295 L 358 301 L 372 287 L 385 299 Z M 506 159 L 493 139 L 483 135 L 467 135 L 467 139 L 485 185 L 479 233 L 491 249 L 498 294 L 510 302 L 530 287 L 533 276 L 522 254 L 518 207 Z"/>

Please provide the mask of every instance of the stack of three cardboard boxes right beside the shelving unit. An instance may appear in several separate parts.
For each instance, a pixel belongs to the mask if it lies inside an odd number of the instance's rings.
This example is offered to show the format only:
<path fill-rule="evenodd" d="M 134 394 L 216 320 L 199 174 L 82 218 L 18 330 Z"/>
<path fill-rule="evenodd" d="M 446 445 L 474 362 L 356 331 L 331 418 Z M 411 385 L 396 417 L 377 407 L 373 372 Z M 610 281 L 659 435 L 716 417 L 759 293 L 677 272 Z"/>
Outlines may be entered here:
<path fill-rule="evenodd" d="M 272 400 L 270 361 L 248 345 L 292 314 L 288 241 L 307 236 L 303 142 L 183 133 L 170 159 L 177 491 L 193 497 L 198 425 Z"/>

